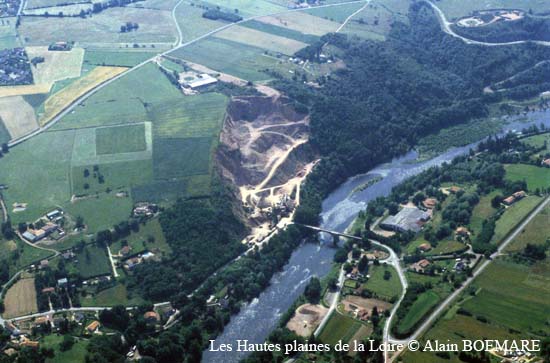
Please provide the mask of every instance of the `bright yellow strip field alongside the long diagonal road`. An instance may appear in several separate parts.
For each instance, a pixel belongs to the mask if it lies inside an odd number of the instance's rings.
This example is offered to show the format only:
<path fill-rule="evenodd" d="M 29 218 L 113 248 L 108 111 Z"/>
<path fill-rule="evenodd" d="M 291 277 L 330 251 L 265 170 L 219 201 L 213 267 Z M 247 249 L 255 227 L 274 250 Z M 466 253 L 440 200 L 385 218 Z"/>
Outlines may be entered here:
<path fill-rule="evenodd" d="M 124 72 L 125 67 L 97 67 L 84 77 L 77 79 L 44 102 L 44 113 L 39 116 L 41 126 L 47 124 L 58 113 L 92 88 Z"/>

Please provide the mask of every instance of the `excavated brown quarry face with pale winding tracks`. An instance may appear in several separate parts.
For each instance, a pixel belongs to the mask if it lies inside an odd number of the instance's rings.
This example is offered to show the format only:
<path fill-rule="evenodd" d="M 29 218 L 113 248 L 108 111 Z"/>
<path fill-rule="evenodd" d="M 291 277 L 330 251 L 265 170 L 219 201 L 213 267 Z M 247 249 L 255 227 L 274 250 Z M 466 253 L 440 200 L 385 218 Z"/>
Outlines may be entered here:
<path fill-rule="evenodd" d="M 237 186 L 284 184 L 311 160 L 301 147 L 308 139 L 308 121 L 283 97 L 234 98 L 217 154 L 224 177 Z"/>

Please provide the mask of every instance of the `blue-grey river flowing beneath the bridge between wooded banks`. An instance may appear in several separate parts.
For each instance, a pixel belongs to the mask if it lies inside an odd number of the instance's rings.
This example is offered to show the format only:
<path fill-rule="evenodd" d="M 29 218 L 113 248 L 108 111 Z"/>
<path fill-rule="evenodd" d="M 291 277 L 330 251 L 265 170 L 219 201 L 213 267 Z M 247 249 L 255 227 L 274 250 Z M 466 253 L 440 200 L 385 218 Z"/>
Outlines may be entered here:
<path fill-rule="evenodd" d="M 521 130 L 541 123 L 550 127 L 550 111 L 533 112 L 528 115 L 528 119 L 529 121 L 511 121 L 504 126 L 503 131 Z M 394 159 L 391 163 L 382 164 L 365 174 L 348 179 L 324 200 L 321 226 L 343 232 L 359 211 L 366 208 L 369 201 L 388 195 L 394 186 L 423 170 L 468 153 L 476 144 L 452 148 L 433 159 L 422 162 L 416 162 L 418 154 L 411 151 Z M 383 179 L 362 191 L 352 193 L 355 188 L 376 177 L 383 177 Z M 327 239 L 321 244 L 308 243 L 298 247 L 283 270 L 273 276 L 269 287 L 258 298 L 243 307 L 239 314 L 233 316 L 224 332 L 216 339 L 215 345 L 232 344 L 233 351 L 206 350 L 202 362 L 237 363 L 247 355 L 246 352 L 235 351 L 237 340 L 263 343 L 277 326 L 281 315 L 304 291 L 308 280 L 312 276 L 322 277 L 330 271 L 335 253 L 331 245 L 331 239 Z"/>

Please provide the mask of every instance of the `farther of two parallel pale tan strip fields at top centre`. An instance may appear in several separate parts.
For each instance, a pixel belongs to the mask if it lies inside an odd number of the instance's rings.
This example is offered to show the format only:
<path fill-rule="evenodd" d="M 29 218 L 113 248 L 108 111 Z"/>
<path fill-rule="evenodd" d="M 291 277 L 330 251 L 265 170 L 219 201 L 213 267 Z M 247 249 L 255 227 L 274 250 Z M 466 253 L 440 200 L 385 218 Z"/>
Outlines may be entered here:
<path fill-rule="evenodd" d="M 319 36 L 333 32 L 340 26 L 337 22 L 303 12 L 290 12 L 281 15 L 264 16 L 257 20 L 262 23 L 297 30 L 304 34 Z"/>

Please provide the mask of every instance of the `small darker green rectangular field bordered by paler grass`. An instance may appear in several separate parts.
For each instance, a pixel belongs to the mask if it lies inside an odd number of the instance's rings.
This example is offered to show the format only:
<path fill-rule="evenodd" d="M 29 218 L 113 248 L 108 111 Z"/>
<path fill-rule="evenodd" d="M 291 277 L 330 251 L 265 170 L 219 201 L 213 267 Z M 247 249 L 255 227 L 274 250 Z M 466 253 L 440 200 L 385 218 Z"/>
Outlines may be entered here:
<path fill-rule="evenodd" d="M 143 124 L 102 127 L 96 129 L 95 137 L 98 155 L 131 153 L 147 148 Z"/>

